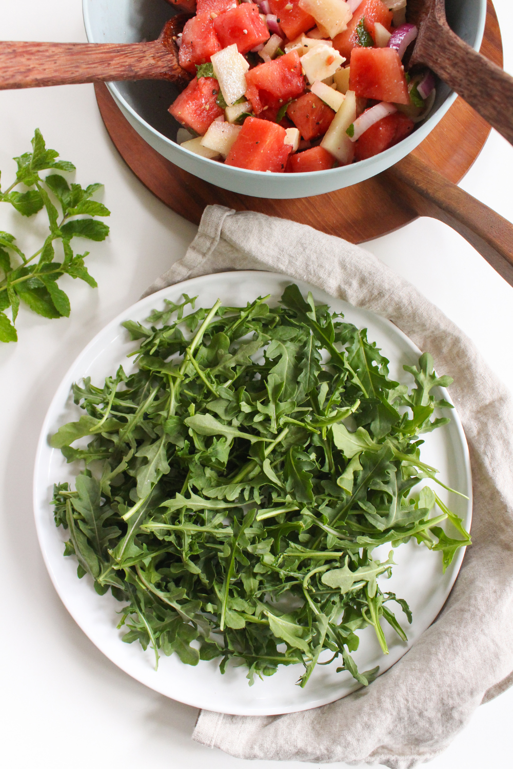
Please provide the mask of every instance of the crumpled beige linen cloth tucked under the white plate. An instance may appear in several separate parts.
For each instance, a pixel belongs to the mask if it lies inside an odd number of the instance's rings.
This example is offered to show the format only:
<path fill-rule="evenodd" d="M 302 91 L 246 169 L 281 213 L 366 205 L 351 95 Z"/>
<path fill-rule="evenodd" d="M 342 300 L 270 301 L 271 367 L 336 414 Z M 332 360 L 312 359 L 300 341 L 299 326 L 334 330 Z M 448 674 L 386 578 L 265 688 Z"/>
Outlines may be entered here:
<path fill-rule="evenodd" d="M 513 684 L 513 399 L 416 288 L 363 248 L 305 225 L 210 206 L 185 258 L 147 294 L 234 269 L 285 273 L 389 318 L 431 352 L 438 371 L 451 372 L 470 449 L 474 544 L 437 621 L 367 689 L 282 716 L 202 711 L 192 738 L 248 759 L 414 767 Z"/>

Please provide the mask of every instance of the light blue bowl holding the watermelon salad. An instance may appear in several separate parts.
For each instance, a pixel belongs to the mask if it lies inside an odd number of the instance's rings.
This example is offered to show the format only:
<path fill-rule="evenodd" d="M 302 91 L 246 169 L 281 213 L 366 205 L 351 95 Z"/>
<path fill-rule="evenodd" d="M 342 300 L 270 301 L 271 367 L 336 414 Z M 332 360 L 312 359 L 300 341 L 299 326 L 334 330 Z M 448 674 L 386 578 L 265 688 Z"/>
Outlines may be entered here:
<path fill-rule="evenodd" d="M 486 0 L 446 0 L 445 5 L 451 28 L 478 51 L 485 30 Z M 164 0 L 82 0 L 82 7 L 88 41 L 95 43 L 154 40 L 173 15 Z M 168 107 L 178 92 L 170 83 L 147 80 L 107 86 L 130 125 L 165 158 L 218 187 L 258 198 L 322 195 L 385 171 L 426 138 L 456 98 L 448 86 L 439 85 L 429 118 L 398 145 L 374 158 L 329 171 L 269 174 L 207 160 L 177 145 L 178 123 L 169 115 Z"/>

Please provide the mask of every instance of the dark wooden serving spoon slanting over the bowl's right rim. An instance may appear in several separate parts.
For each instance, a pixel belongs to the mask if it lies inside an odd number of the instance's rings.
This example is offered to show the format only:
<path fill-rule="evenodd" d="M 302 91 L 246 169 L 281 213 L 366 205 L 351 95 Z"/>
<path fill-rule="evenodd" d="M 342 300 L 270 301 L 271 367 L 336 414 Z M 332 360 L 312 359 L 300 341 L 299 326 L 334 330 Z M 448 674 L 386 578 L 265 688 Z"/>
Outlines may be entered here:
<path fill-rule="evenodd" d="M 425 64 L 513 144 L 513 78 L 452 32 L 445 0 L 408 0 L 418 26 L 410 65 Z"/>

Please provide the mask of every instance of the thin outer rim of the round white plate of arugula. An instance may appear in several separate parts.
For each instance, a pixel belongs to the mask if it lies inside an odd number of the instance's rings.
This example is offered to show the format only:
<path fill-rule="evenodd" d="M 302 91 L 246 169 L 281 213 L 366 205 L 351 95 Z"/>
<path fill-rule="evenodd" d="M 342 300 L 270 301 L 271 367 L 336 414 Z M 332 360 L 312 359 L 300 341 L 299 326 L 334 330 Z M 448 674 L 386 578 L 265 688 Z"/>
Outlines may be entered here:
<path fill-rule="evenodd" d="M 50 432 L 49 428 L 50 428 L 50 422 L 51 422 L 52 414 L 55 411 L 54 407 L 55 407 L 55 405 L 59 405 L 59 404 L 62 407 L 62 405 L 65 403 L 65 399 L 68 398 L 68 395 L 69 395 L 69 382 L 68 382 L 68 380 L 70 380 L 70 378 L 71 378 L 72 371 L 74 370 L 75 365 L 77 365 L 77 362 L 82 357 L 87 355 L 88 351 L 95 346 L 98 338 L 100 338 L 103 335 L 105 335 L 112 328 L 118 328 L 121 325 L 122 321 L 124 321 L 126 319 L 126 315 L 128 313 L 132 313 L 134 308 L 140 308 L 140 306 L 144 305 L 144 304 L 151 305 L 154 301 L 158 301 L 159 298 L 164 298 L 164 295 L 167 295 L 169 291 L 173 291 L 173 290 L 180 291 L 182 287 L 185 289 L 185 291 L 187 291 L 188 284 L 192 283 L 193 281 L 195 282 L 195 281 L 198 281 L 198 280 L 201 280 L 201 279 L 208 278 L 210 275 L 212 275 L 212 277 L 214 275 L 226 275 L 227 277 L 228 277 L 228 275 L 232 276 L 232 277 L 233 276 L 237 276 L 239 279 L 242 280 L 243 278 L 251 278 L 252 275 L 258 276 L 258 275 L 261 275 L 262 273 L 265 273 L 266 275 L 273 275 L 273 276 L 275 276 L 275 278 L 285 278 L 286 280 L 289 280 L 289 281 L 300 282 L 302 284 L 311 286 L 311 288 L 318 289 L 320 291 L 323 291 L 325 294 L 328 294 L 328 292 L 325 291 L 325 289 L 321 288 L 320 286 L 315 286 L 313 284 L 308 283 L 308 281 L 303 281 L 300 278 L 295 278 L 295 277 L 293 277 L 291 275 L 285 275 L 284 273 L 280 273 L 280 272 L 275 272 L 275 271 L 271 271 L 271 270 L 226 270 L 226 271 L 220 271 L 220 272 L 217 272 L 217 273 L 207 273 L 205 275 L 197 275 L 197 276 L 195 276 L 195 278 L 187 278 L 184 281 L 178 281 L 177 283 L 174 283 L 172 285 L 165 286 L 164 288 L 161 288 L 158 291 L 153 292 L 152 294 L 148 294 L 148 295 L 138 299 L 138 301 L 134 302 L 132 305 L 129 305 L 127 308 L 125 308 L 124 310 L 119 312 L 118 315 L 116 315 L 115 318 L 112 318 L 111 321 L 108 321 L 108 323 L 105 324 L 92 337 L 92 339 L 90 341 L 88 341 L 88 344 L 85 345 L 85 347 L 82 348 L 82 350 L 78 352 L 78 355 L 75 356 L 75 358 L 73 359 L 71 365 L 68 367 L 67 371 L 65 372 L 65 375 L 61 378 L 61 381 L 59 382 L 58 387 L 55 390 L 55 394 L 52 397 L 52 400 L 50 401 L 50 404 L 48 405 L 48 409 L 47 409 L 47 411 L 45 413 L 45 418 L 44 418 L 44 420 L 42 422 L 42 428 L 41 428 L 41 432 L 39 434 L 37 449 L 36 449 L 36 452 L 35 452 L 34 472 L 33 472 L 33 481 L 32 481 L 32 504 L 33 504 L 34 518 L 35 518 L 36 534 L 38 536 L 38 544 L 39 544 L 39 548 L 40 548 L 40 550 L 42 552 L 43 560 L 45 562 L 45 567 L 46 567 L 46 569 L 48 571 L 48 575 L 49 575 L 49 577 L 50 577 L 50 579 L 52 581 L 52 584 L 53 584 L 53 586 L 55 588 L 55 591 L 58 594 L 59 599 L 65 605 L 65 608 L 68 611 L 68 614 L 71 615 L 71 617 L 76 622 L 76 624 L 78 624 L 78 627 L 87 636 L 89 641 L 91 641 L 92 644 L 95 645 L 95 647 L 98 649 L 98 651 L 100 651 L 102 654 L 104 654 L 105 657 L 108 657 L 108 659 L 110 661 L 112 661 L 116 665 L 116 667 L 118 667 L 120 670 L 122 670 L 125 674 L 127 674 L 128 676 L 134 678 L 136 681 L 138 681 L 139 683 L 143 684 L 144 686 L 147 686 L 148 688 L 152 689 L 152 691 L 158 691 L 158 693 L 163 694 L 163 696 L 168 697 L 169 699 L 174 699 L 175 701 L 182 702 L 182 704 L 186 704 L 186 705 L 189 705 L 191 707 L 198 707 L 200 709 L 203 709 L 205 707 L 205 705 L 202 705 L 200 702 L 198 702 L 195 699 L 194 694 L 192 694 L 192 696 L 188 697 L 188 698 L 184 698 L 183 696 L 180 696 L 180 699 L 178 699 L 177 697 L 172 697 L 172 695 L 165 694 L 160 689 L 152 687 L 152 685 L 148 684 L 147 681 L 142 680 L 141 677 L 138 677 L 138 675 L 135 672 L 128 671 L 125 667 L 122 666 L 122 664 L 117 659 L 115 659 L 115 657 L 112 657 L 110 654 L 108 654 L 102 648 L 98 647 L 98 645 L 93 640 L 93 638 L 91 638 L 91 636 L 88 634 L 88 631 L 86 631 L 85 628 L 82 627 L 81 622 L 78 621 L 78 618 L 75 616 L 75 611 L 74 611 L 73 606 L 70 605 L 70 602 L 63 596 L 62 592 L 59 589 L 58 579 L 57 579 L 57 577 L 55 575 L 55 572 L 53 571 L 53 568 L 52 568 L 52 561 L 50 560 L 50 558 L 48 556 L 48 553 L 47 553 L 47 551 L 45 549 L 43 524 L 42 524 L 42 521 L 40 521 L 39 518 L 38 518 L 38 509 L 41 507 L 40 487 L 38 486 L 38 471 L 39 471 L 39 468 L 40 468 L 40 465 L 41 465 L 42 455 L 43 455 L 45 449 L 48 448 L 47 439 L 48 439 L 48 434 Z M 346 305 L 351 305 L 350 302 L 348 302 L 345 299 L 342 299 L 340 297 L 332 297 L 332 298 L 335 299 L 335 301 L 344 301 Z M 365 308 L 365 307 L 358 307 L 358 305 L 351 305 L 351 307 L 354 307 L 355 309 L 358 309 L 358 310 L 361 310 L 361 311 L 368 312 L 371 315 L 375 315 L 377 318 L 380 319 L 380 321 L 383 321 L 385 323 L 385 325 L 388 325 L 388 327 L 391 329 L 391 331 L 393 331 L 393 333 L 395 335 L 399 335 L 400 337 L 402 337 L 405 341 L 407 341 L 408 345 L 411 348 L 415 348 L 415 351 L 417 351 L 418 354 L 421 355 L 421 350 L 417 347 L 417 345 L 415 345 L 415 342 L 413 342 L 405 334 L 405 332 L 401 330 L 401 328 L 399 328 L 397 325 L 392 323 L 392 321 L 390 321 L 388 318 L 385 318 L 384 315 L 378 315 L 377 312 L 375 312 L 373 310 L 369 310 L 368 308 Z M 465 431 L 464 431 L 463 426 L 461 424 L 461 419 L 459 417 L 457 409 L 454 406 L 454 403 L 453 403 L 453 401 L 451 399 L 450 394 L 448 393 L 446 388 L 438 388 L 438 389 L 439 389 L 439 391 L 441 391 L 443 397 L 450 404 L 452 404 L 452 406 L 454 408 L 454 411 L 452 413 L 455 415 L 455 419 L 453 421 L 454 421 L 455 427 L 456 427 L 456 429 L 458 431 L 458 438 L 459 438 L 460 443 L 461 443 L 461 450 L 462 450 L 462 453 L 463 453 L 463 456 L 464 456 L 464 462 L 465 462 L 465 476 L 466 476 L 466 480 L 467 480 L 467 483 L 468 483 L 468 504 L 467 504 L 467 509 L 468 509 L 468 531 L 471 531 L 473 501 L 472 501 L 471 462 L 470 462 L 470 454 L 469 454 L 469 451 L 468 451 L 468 443 L 467 443 L 467 439 L 466 439 L 466 436 L 465 436 Z M 65 395 L 64 400 L 63 400 L 63 395 Z M 49 506 L 48 506 L 48 512 L 49 512 L 49 514 L 51 514 L 51 510 L 50 510 Z M 57 529 L 55 529 L 55 531 L 57 531 Z M 461 568 L 461 563 L 463 561 L 463 558 L 465 557 L 466 549 L 467 549 L 466 547 L 460 548 L 459 551 L 458 551 L 457 557 L 455 558 L 455 561 L 453 561 L 453 564 L 455 564 L 455 566 L 453 567 L 453 572 L 451 574 L 451 579 L 450 579 L 450 581 L 448 583 L 448 588 L 446 590 L 445 601 L 444 601 L 443 604 L 441 604 L 441 606 L 440 606 L 440 608 L 438 610 L 438 613 L 436 615 L 437 617 L 438 617 L 438 614 L 440 614 L 440 612 L 444 608 L 446 602 L 448 601 L 448 597 L 451 594 L 451 591 L 452 591 L 452 588 L 454 587 L 456 579 L 458 578 L 458 574 L 459 574 L 459 571 L 460 571 L 460 568 Z M 435 620 L 436 620 L 436 617 L 433 619 L 433 621 L 431 621 L 431 624 Z M 428 627 L 430 627 L 430 626 L 428 626 Z M 425 631 L 423 631 L 423 632 L 425 632 Z M 404 657 L 405 654 L 408 654 L 408 651 L 410 651 L 410 649 L 413 646 L 413 644 L 415 644 L 415 641 L 412 641 L 411 646 L 409 646 L 404 651 L 404 653 L 401 654 L 401 657 Z M 393 664 L 397 664 L 397 662 L 401 659 L 401 657 L 399 657 L 398 660 L 395 663 L 393 663 Z M 387 667 L 386 669 L 382 670 L 380 672 L 380 674 L 379 674 L 379 677 L 381 677 L 382 674 L 386 673 L 386 671 L 389 670 L 390 667 L 392 667 L 392 664 L 389 667 Z M 235 710 L 234 711 L 230 711 L 230 714 L 234 714 L 234 715 L 281 715 L 281 714 L 287 714 L 287 713 L 306 711 L 306 710 L 309 710 L 309 709 L 315 708 L 315 707 L 323 707 L 325 704 L 330 704 L 331 702 L 337 701 L 338 699 L 341 699 L 343 697 L 348 696 L 348 694 L 351 694 L 352 691 L 356 691 L 356 689 L 358 689 L 358 688 L 360 688 L 360 687 L 357 686 L 357 687 L 355 687 L 355 689 L 351 689 L 351 691 L 348 691 L 345 694 L 342 694 L 341 696 L 337 696 L 337 695 L 331 696 L 330 695 L 330 696 L 328 696 L 326 698 L 325 701 L 323 701 L 321 703 L 315 703 L 315 704 L 309 704 L 309 705 L 303 703 L 303 704 L 299 704 L 298 706 L 293 706 L 293 707 L 283 707 L 283 706 L 280 706 L 278 708 L 266 707 L 265 709 L 261 709 L 261 708 L 258 709 L 258 707 L 255 707 L 255 711 L 253 711 L 252 713 L 248 713 L 246 711 L 242 712 L 240 707 L 239 708 L 235 707 Z M 207 709 L 211 710 L 211 711 L 214 711 L 214 712 L 219 712 L 219 713 L 226 713 L 226 712 L 228 712 L 225 709 L 220 710 L 220 711 L 215 711 L 215 709 L 212 707 L 212 704 L 208 705 Z"/>

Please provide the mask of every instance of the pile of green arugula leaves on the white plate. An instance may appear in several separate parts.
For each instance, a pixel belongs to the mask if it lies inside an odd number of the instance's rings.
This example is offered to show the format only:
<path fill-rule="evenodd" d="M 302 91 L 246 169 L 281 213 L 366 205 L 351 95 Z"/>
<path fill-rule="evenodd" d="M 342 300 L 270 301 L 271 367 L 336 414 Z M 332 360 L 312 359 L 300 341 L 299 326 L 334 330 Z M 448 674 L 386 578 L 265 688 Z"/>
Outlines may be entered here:
<path fill-rule="evenodd" d="M 431 488 L 408 498 L 420 478 L 437 481 L 418 435 L 448 421 L 431 419 L 448 404 L 430 392 L 451 378 L 422 355 L 405 366 L 408 393 L 365 330 L 295 285 L 276 308 L 258 298 L 195 310 L 187 295 L 166 305 L 151 328 L 124 324 L 141 340 L 137 371 L 75 384 L 85 414 L 52 437 L 68 462 L 95 470 L 75 491 L 55 485 L 65 555 L 98 593 L 126 602 L 123 640 L 151 644 L 157 662 L 159 649 L 193 665 L 221 657 L 221 671 L 232 659 L 250 683 L 301 663 L 305 686 L 328 650 L 368 684 L 378 668 L 358 672 L 356 631 L 371 625 L 388 653 L 381 620 L 406 638 L 391 602 L 411 621 L 377 583 L 393 553 L 381 563 L 373 548 L 414 537 L 441 551 L 445 571 L 470 544 Z M 448 538 L 445 518 L 462 538 Z"/>

